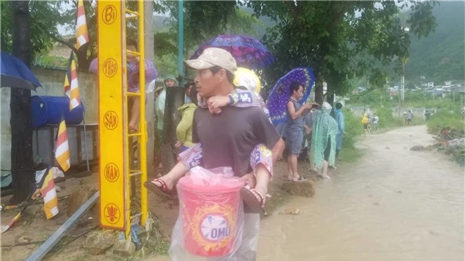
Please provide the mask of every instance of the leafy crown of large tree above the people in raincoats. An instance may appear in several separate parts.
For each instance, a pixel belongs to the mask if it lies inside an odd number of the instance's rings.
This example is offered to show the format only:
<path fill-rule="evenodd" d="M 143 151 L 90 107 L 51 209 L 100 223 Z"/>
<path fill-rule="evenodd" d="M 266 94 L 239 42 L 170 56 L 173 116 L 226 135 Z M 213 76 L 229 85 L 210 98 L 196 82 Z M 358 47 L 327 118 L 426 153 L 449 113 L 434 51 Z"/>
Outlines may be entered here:
<path fill-rule="evenodd" d="M 311 66 L 316 74 L 316 100 L 322 102 L 322 81 L 328 94 L 351 90 L 349 79 L 367 76 L 371 85 L 383 86 L 386 67 L 409 54 L 410 35 L 400 19 L 410 8 L 406 24 L 417 36 L 435 27 L 434 1 L 249 1 L 256 16 L 277 24 L 263 41 L 277 61 L 264 70 L 271 82 L 292 67 Z M 398 64 L 398 63 L 395 63 Z"/>

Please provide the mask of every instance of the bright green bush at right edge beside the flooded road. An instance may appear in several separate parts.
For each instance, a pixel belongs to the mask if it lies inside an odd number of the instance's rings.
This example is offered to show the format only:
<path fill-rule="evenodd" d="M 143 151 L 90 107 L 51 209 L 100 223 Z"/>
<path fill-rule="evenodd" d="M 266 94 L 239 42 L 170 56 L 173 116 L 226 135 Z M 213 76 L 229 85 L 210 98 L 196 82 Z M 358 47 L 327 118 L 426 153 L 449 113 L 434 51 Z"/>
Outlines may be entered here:
<path fill-rule="evenodd" d="M 431 134 L 437 134 L 444 127 L 451 127 L 451 129 L 463 135 L 464 116 L 457 112 L 442 109 L 431 116 L 430 121 L 426 123 L 426 127 L 428 127 L 428 132 Z"/>

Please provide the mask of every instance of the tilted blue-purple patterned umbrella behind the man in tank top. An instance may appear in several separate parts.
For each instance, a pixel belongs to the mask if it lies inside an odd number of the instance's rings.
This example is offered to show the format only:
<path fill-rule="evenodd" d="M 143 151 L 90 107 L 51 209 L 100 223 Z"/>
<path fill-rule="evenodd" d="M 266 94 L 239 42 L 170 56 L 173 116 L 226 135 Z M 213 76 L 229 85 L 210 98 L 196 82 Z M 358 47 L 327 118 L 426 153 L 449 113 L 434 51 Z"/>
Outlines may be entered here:
<path fill-rule="evenodd" d="M 304 96 L 300 99 L 299 103 L 309 98 L 311 87 L 315 83 L 315 77 L 313 76 L 313 70 L 310 67 L 298 67 L 291 70 L 285 76 L 273 86 L 267 101 L 267 108 L 269 109 L 269 116 L 274 125 L 283 123 L 287 118 L 286 103 L 290 97 L 290 85 L 293 82 L 301 83 L 304 87 Z"/>

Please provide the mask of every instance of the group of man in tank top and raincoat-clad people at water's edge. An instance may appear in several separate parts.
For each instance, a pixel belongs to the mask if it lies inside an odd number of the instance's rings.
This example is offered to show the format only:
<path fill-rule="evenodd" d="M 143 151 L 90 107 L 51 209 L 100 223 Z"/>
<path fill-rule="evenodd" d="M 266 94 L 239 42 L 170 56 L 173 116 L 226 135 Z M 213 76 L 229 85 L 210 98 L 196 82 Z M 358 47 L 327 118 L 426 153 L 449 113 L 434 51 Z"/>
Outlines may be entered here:
<path fill-rule="evenodd" d="M 335 168 L 335 158 L 342 148 L 344 134 L 344 114 L 342 103 L 336 103 L 335 110 L 327 103 L 304 103 L 302 98 L 304 87 L 294 82 L 290 86 L 290 97 L 287 102 L 287 121 L 278 126 L 282 129 L 282 138 L 286 141 L 287 180 L 302 181 L 304 176 L 298 174 L 298 157 L 302 149 L 307 148 L 307 159 L 318 176 L 330 178 L 328 167 Z M 332 113 L 331 113 L 332 112 Z M 332 116 L 331 116 L 332 114 Z"/>

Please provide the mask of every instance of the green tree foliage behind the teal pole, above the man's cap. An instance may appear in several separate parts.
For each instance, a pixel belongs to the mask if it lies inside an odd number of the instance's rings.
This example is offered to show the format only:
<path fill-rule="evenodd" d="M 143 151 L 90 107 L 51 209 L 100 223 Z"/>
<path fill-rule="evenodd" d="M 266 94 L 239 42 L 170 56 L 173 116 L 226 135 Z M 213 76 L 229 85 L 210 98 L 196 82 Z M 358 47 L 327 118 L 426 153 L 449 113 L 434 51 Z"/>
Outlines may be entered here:
<path fill-rule="evenodd" d="M 185 58 L 192 56 L 201 43 L 218 34 L 256 36 L 256 25 L 262 25 L 256 17 L 239 10 L 235 1 L 186 1 L 184 10 Z M 178 3 L 167 1 L 161 11 L 171 15 L 165 21 L 168 30 L 155 34 L 155 55 L 158 64 L 169 66 L 169 72 L 173 73 L 177 72 Z"/>

